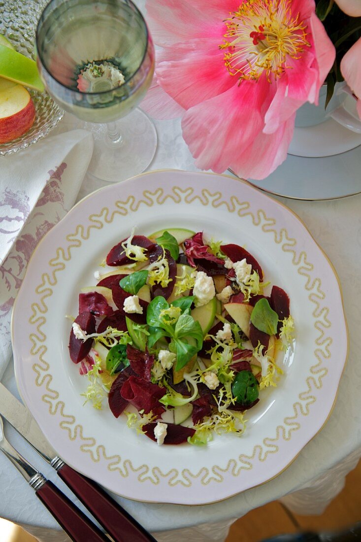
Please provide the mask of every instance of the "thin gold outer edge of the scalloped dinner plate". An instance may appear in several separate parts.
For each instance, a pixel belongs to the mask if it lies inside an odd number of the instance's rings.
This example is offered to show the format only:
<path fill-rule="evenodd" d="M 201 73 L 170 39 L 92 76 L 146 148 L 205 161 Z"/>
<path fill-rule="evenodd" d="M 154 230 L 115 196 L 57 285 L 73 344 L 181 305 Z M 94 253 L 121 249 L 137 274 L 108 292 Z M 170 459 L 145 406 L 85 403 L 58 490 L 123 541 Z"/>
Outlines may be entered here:
<path fill-rule="evenodd" d="M 228 179 L 231 179 L 233 182 L 234 181 L 237 181 L 237 182 L 241 182 L 241 183 L 244 183 L 248 186 L 248 188 L 251 188 L 254 192 L 256 193 L 259 193 L 261 191 L 261 189 L 259 189 L 258 187 L 254 186 L 252 183 L 248 182 L 246 179 L 240 179 L 240 178 L 235 178 L 233 176 L 230 176 L 230 175 L 225 175 L 225 174 L 217 174 L 217 173 L 214 173 L 214 172 L 198 172 L 198 171 L 185 171 L 185 170 L 179 170 L 179 169 L 174 169 L 174 168 L 165 168 L 165 169 L 158 169 L 158 170 L 152 170 L 152 171 L 149 171 L 149 172 L 144 172 L 144 173 L 140 173 L 140 175 L 137 175 L 137 176 L 134 176 L 130 179 L 127 179 L 128 182 L 131 182 L 133 179 L 138 179 L 139 177 L 143 177 L 143 176 L 150 176 L 154 173 L 159 173 L 159 172 L 181 172 L 182 174 L 186 173 L 188 176 L 192 176 L 192 175 L 211 175 L 211 176 L 218 176 L 218 177 L 225 177 L 225 178 L 228 178 Z M 114 183 L 114 184 L 118 184 L 120 185 L 121 183 Z M 87 198 L 89 197 L 94 197 L 94 195 L 96 193 L 98 193 L 99 191 L 101 190 L 105 190 L 105 189 L 112 189 L 111 187 L 114 186 L 114 184 L 112 185 L 108 185 L 108 186 L 103 186 L 101 188 L 99 188 L 98 190 L 95 190 L 91 193 L 89 193 L 88 195 L 86 195 L 85 197 L 83 197 L 79 202 L 77 202 L 74 207 L 72 209 L 70 209 L 67 213 L 67 215 L 65 217 L 62 218 L 61 221 L 59 221 L 57 224 L 55 224 L 54 228 L 52 228 L 51 230 L 55 229 L 63 220 L 66 219 L 66 217 L 69 216 L 69 214 L 71 212 L 76 211 L 76 208 L 78 208 L 78 205 L 81 204 L 83 201 L 85 201 Z M 283 209 L 285 209 L 287 212 L 291 213 L 291 215 L 293 215 L 296 219 L 296 221 L 299 222 L 299 224 L 301 225 L 301 227 L 304 228 L 305 230 L 305 233 L 308 234 L 310 236 L 310 239 L 313 241 L 313 243 L 315 244 L 315 247 L 318 248 L 320 254 L 324 257 L 324 259 L 326 260 L 326 262 L 328 263 L 328 267 L 331 268 L 331 271 L 332 271 L 332 274 L 334 275 L 334 278 L 336 278 L 336 281 L 338 283 L 338 288 L 339 288 L 339 293 L 340 293 L 340 301 L 341 301 L 341 306 L 342 306 L 342 319 L 343 319 L 343 322 L 345 324 L 345 342 L 346 342 L 346 352 L 345 352 L 345 360 L 344 360 L 344 363 L 343 363 L 343 369 L 340 373 L 340 377 L 338 379 L 338 382 L 337 382 L 337 389 L 336 389 L 336 395 L 334 397 L 334 401 L 333 401 L 333 404 L 331 406 L 331 409 L 329 410 L 328 412 L 328 415 L 324 421 L 324 423 L 321 425 L 321 427 L 316 431 L 315 434 L 313 434 L 309 440 L 307 440 L 307 442 L 305 442 L 303 444 L 303 446 L 301 447 L 301 449 L 294 455 L 294 457 L 292 458 L 291 461 L 289 461 L 287 463 L 286 466 L 282 467 L 276 474 L 274 474 L 271 478 L 268 478 L 267 480 L 264 480 L 260 483 L 257 483 L 255 485 L 252 485 L 252 486 L 249 486 L 249 489 L 250 488 L 253 488 L 253 487 L 258 487 L 258 486 L 261 486 L 263 485 L 263 483 L 266 483 L 270 480 L 273 480 L 274 478 L 276 478 L 279 474 L 283 473 L 295 460 L 296 458 L 298 457 L 298 455 L 301 453 L 302 449 L 304 449 L 304 447 L 315 437 L 317 436 L 320 431 L 324 428 L 325 424 L 327 423 L 328 419 L 330 418 L 331 414 L 332 414 L 332 411 L 333 411 L 333 408 L 334 408 L 334 405 L 336 404 L 336 401 L 337 401 L 337 396 L 338 396 L 338 392 L 339 392 L 339 384 L 340 384 L 340 380 L 341 380 L 341 377 L 343 376 L 343 373 L 345 371 L 345 367 L 346 367 L 346 363 L 347 363 L 347 359 L 349 357 L 349 347 L 350 347 L 350 343 L 349 343 L 349 329 L 348 329 L 348 325 L 347 325 L 347 320 L 346 320 L 346 314 L 345 314 L 345 306 L 344 306 L 344 299 L 343 299 L 343 292 L 342 292 L 342 289 L 341 289 L 341 283 L 340 283 L 340 280 L 339 280 L 339 277 L 338 277 L 338 274 L 337 274 L 337 271 L 336 269 L 334 268 L 330 258 L 328 257 L 328 255 L 325 253 L 325 251 L 323 250 L 323 248 L 320 247 L 320 245 L 318 244 L 318 242 L 314 239 L 313 235 L 311 234 L 311 232 L 308 230 L 306 224 L 301 220 L 301 218 L 292 210 L 292 209 L 289 209 L 285 204 L 283 204 L 282 202 L 279 202 L 278 200 L 275 200 L 274 198 L 270 197 L 269 195 L 267 195 L 267 193 L 261 191 L 262 193 L 262 197 L 266 197 L 270 200 L 272 200 L 273 203 L 275 203 L 276 205 L 280 205 L 280 207 L 282 207 Z M 51 231 L 50 230 L 50 231 Z M 30 257 L 30 260 L 28 262 L 28 266 L 30 265 L 30 262 L 31 260 L 33 259 L 33 256 L 35 256 L 35 254 L 37 253 L 37 249 L 38 247 L 40 246 L 40 244 L 42 243 L 42 241 L 44 240 L 46 236 L 43 236 L 40 240 L 40 242 L 37 244 L 33 254 L 31 255 Z M 28 268 L 27 268 L 28 270 Z M 15 303 L 14 303 L 14 308 L 13 308 L 13 311 L 12 311 L 12 315 L 11 315 L 11 341 L 12 341 L 12 345 L 13 345 L 13 349 L 14 349 L 14 314 L 15 314 L 15 308 L 16 308 L 16 303 L 17 303 L 17 300 L 18 300 L 18 296 L 16 297 L 15 299 Z M 14 352 L 15 354 L 15 352 Z M 19 381 L 18 381 L 18 375 L 17 375 L 17 370 L 16 370 L 16 364 L 14 363 L 14 367 L 15 367 L 15 379 L 16 379 L 16 383 L 17 383 L 17 387 L 21 393 L 21 388 L 20 388 L 20 385 L 19 385 Z M 27 403 L 24 401 L 23 399 L 23 396 L 22 396 L 22 393 L 21 393 L 21 397 L 22 397 L 22 400 L 25 404 L 25 406 L 27 406 Z M 29 411 L 31 412 L 30 408 L 27 406 L 27 408 L 29 409 Z M 72 462 L 71 461 L 67 461 L 67 463 L 72 466 Z M 82 472 L 81 469 L 79 469 L 79 467 L 75 467 L 77 470 L 79 470 L 79 472 Z M 83 474 L 89 476 L 88 473 L 86 472 L 82 472 Z M 114 488 L 113 487 L 108 487 L 107 484 L 105 483 L 104 484 L 104 487 L 107 487 L 109 489 L 109 491 L 112 491 L 120 496 L 124 496 L 124 498 L 127 498 L 127 499 L 130 499 L 130 500 L 134 500 L 134 501 L 138 501 L 138 502 L 163 502 L 164 504 L 181 504 L 181 505 L 184 505 L 184 506 L 202 506 L 203 504 L 214 504 L 216 502 L 222 502 L 224 500 L 227 500 L 229 498 L 231 498 L 232 496 L 235 496 L 237 494 L 240 494 L 242 493 L 243 491 L 246 491 L 247 488 L 245 489 L 241 489 L 240 491 L 237 491 L 235 493 L 232 493 L 232 494 L 229 494 L 227 495 L 226 497 L 222 498 L 222 499 L 217 499 L 215 501 L 209 501 L 207 500 L 206 502 L 202 501 L 202 502 L 196 502 L 196 503 L 191 503 L 191 504 L 186 504 L 185 502 L 181 502 L 181 501 L 173 501 L 173 500 L 170 500 L 170 499 L 167 499 L 167 500 L 143 500 L 143 499 L 139 499 L 139 498 L 132 498 L 128 495 L 124 495 L 124 494 L 121 494 L 119 493 L 118 491 L 115 492 L 114 491 Z"/>

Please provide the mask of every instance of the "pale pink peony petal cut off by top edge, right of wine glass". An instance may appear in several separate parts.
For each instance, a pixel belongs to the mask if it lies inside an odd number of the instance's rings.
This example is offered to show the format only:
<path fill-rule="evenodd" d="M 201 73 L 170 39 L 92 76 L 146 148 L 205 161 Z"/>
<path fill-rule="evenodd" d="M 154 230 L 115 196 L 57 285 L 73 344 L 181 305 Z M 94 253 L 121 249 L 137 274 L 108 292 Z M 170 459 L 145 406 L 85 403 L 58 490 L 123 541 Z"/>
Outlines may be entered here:
<path fill-rule="evenodd" d="M 200 7 L 201 2 L 197 2 Z M 147 23 L 154 43 L 166 47 L 196 37 L 218 36 L 220 43 L 224 34 L 224 17 L 215 17 L 214 10 L 197 9 L 184 0 L 147 0 Z"/>

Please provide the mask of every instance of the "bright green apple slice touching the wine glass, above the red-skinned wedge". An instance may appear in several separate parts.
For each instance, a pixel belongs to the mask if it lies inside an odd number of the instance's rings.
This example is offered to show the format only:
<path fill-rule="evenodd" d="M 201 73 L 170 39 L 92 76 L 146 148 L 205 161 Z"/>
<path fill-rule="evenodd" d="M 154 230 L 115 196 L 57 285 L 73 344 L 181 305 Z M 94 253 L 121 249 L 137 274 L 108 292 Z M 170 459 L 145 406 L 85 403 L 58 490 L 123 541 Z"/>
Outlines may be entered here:
<path fill-rule="evenodd" d="M 36 91 L 44 90 L 36 62 L 4 44 L 0 44 L 0 76 Z"/>

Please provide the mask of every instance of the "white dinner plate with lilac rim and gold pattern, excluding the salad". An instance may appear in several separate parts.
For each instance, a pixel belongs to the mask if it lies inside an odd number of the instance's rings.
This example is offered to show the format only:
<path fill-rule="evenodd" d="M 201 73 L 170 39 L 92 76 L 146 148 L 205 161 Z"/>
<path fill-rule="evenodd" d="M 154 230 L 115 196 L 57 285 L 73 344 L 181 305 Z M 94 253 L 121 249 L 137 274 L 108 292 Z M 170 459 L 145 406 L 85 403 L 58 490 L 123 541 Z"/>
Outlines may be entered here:
<path fill-rule="evenodd" d="M 296 325 L 293 354 L 278 358 L 277 388 L 247 413 L 246 432 L 205 447 L 157 446 L 104 408 L 83 406 L 86 378 L 69 358 L 78 293 L 133 226 L 204 230 L 246 246 L 266 280 L 286 290 Z M 282 472 L 323 427 L 347 356 L 339 282 L 327 256 L 292 211 L 245 182 L 164 170 L 107 186 L 83 199 L 43 238 L 14 307 L 12 343 L 24 402 L 59 455 L 130 499 L 199 505 Z M 106 407 L 106 405 L 105 405 Z"/>

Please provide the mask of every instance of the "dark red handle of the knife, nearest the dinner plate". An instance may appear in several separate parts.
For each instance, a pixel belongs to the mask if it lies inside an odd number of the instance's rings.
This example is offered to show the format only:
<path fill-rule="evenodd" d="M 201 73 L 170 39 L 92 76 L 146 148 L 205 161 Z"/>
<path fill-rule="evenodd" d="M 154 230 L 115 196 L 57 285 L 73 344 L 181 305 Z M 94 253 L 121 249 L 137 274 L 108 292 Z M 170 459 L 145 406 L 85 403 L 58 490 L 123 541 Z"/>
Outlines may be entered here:
<path fill-rule="evenodd" d="M 93 480 L 66 464 L 57 470 L 57 474 L 115 542 L 157 542 Z"/>

